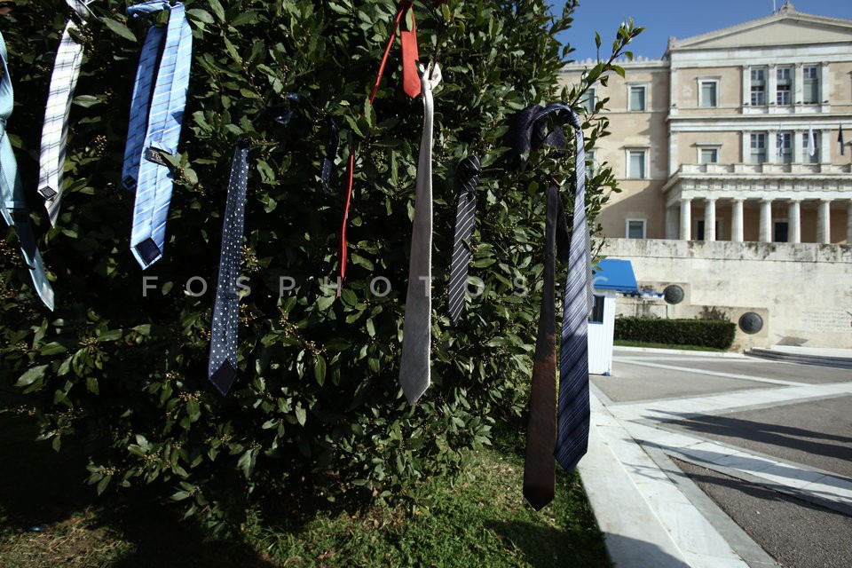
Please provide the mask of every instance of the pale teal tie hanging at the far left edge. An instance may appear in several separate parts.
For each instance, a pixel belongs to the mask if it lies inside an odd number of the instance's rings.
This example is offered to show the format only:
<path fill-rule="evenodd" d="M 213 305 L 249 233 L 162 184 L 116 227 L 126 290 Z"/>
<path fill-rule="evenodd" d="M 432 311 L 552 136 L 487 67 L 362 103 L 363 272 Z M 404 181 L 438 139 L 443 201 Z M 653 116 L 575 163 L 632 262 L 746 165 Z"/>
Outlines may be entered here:
<path fill-rule="evenodd" d="M 42 256 L 36 247 L 33 227 L 29 224 L 29 211 L 24 201 L 24 187 L 18 175 L 18 162 L 12 152 L 12 144 L 6 136 L 6 121 L 12 115 L 14 92 L 9 68 L 6 66 L 6 43 L 0 35 L 0 60 L 3 63 L 3 77 L 0 77 L 0 200 L 3 201 L 3 218 L 7 225 L 15 227 L 20 239 L 20 251 L 33 279 L 36 293 L 42 302 L 53 309 L 53 288 L 44 272 Z"/>

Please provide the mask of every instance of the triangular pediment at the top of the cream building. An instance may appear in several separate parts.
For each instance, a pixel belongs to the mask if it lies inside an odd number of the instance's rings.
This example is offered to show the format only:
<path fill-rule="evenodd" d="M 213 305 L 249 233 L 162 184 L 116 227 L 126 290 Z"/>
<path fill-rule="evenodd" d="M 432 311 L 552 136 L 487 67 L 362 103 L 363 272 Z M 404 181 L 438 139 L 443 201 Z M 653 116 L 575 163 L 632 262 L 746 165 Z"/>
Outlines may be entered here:
<path fill-rule="evenodd" d="M 713 50 L 777 45 L 852 43 L 852 20 L 824 18 L 784 9 L 732 28 L 672 40 L 668 51 Z"/>

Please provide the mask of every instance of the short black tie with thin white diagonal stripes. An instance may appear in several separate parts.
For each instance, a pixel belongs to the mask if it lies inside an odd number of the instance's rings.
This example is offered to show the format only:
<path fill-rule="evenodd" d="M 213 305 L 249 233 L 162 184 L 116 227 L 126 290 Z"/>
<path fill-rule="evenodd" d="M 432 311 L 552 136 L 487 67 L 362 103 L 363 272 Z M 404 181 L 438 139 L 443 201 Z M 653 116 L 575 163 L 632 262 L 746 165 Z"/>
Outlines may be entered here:
<path fill-rule="evenodd" d="M 479 158 L 475 155 L 464 158 L 455 170 L 455 178 L 459 181 L 461 190 L 459 190 L 459 205 L 455 214 L 455 240 L 447 295 L 448 310 L 453 323 L 458 322 L 461 308 L 464 307 L 464 292 L 470 261 L 470 235 L 473 233 L 473 225 L 477 223 L 477 193 L 475 190 L 481 172 Z"/>

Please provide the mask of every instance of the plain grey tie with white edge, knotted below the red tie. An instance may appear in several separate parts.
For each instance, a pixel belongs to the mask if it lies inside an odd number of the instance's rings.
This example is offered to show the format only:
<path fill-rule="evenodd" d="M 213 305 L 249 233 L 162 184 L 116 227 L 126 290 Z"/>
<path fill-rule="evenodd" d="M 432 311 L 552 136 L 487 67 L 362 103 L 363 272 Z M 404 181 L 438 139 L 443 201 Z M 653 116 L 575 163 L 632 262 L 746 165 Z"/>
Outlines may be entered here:
<path fill-rule="evenodd" d="M 414 228 L 411 233 L 411 264 L 408 269 L 406 319 L 402 326 L 402 361 L 399 384 L 408 402 L 414 404 L 429 388 L 429 353 L 432 304 L 432 90 L 441 82 L 436 63 L 427 72 L 422 65 L 423 134 L 417 161 L 417 191 L 414 198 Z"/>

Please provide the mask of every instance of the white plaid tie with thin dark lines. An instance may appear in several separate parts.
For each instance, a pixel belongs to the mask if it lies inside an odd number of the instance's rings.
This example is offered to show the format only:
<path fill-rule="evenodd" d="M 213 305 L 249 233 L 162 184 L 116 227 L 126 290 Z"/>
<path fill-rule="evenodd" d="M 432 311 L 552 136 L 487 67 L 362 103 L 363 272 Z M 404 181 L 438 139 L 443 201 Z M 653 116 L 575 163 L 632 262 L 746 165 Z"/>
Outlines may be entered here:
<path fill-rule="evenodd" d="M 77 17 L 86 25 L 94 15 L 86 4 L 92 0 L 66 0 Z M 51 89 L 44 108 L 42 127 L 42 145 L 39 154 L 38 193 L 46 200 L 51 225 L 56 226 L 59 217 L 59 203 L 62 200 L 62 173 L 65 169 L 65 146 L 68 138 L 68 114 L 71 112 L 71 99 L 80 75 L 80 62 L 83 59 L 83 43 L 78 43 L 72 31 L 79 31 L 74 20 L 68 20 L 51 74 Z"/>

